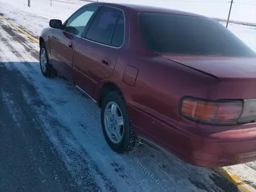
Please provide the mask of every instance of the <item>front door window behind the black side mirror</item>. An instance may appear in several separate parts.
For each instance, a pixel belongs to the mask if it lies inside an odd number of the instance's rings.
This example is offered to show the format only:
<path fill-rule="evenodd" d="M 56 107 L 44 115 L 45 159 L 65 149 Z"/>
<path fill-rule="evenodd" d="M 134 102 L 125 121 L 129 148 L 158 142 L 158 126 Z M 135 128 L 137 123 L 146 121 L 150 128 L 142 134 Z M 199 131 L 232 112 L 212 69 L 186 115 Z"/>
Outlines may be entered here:
<path fill-rule="evenodd" d="M 77 10 L 77 12 L 67 20 L 64 30 L 81 36 L 84 29 L 86 29 L 86 25 L 91 16 L 93 16 L 93 13 L 97 9 L 98 6 L 85 6 L 84 8 Z"/>

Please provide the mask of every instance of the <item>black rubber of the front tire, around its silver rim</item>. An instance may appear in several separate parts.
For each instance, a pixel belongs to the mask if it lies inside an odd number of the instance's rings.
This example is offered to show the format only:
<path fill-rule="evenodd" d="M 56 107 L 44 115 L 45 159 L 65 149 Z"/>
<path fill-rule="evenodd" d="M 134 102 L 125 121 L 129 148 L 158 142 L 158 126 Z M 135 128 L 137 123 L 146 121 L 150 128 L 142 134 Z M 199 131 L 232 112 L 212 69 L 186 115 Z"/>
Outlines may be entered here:
<path fill-rule="evenodd" d="M 45 70 L 42 69 L 42 61 L 41 61 L 41 55 L 42 55 L 43 50 L 46 53 L 45 56 L 46 56 L 46 60 L 47 60 L 47 66 L 46 66 Z M 40 45 L 40 55 L 39 55 L 39 58 L 40 58 L 40 69 L 41 69 L 42 75 L 45 76 L 45 77 L 55 77 L 57 73 L 56 73 L 56 70 L 49 63 L 48 54 L 47 54 L 47 48 L 45 47 L 44 43 L 42 43 Z"/>

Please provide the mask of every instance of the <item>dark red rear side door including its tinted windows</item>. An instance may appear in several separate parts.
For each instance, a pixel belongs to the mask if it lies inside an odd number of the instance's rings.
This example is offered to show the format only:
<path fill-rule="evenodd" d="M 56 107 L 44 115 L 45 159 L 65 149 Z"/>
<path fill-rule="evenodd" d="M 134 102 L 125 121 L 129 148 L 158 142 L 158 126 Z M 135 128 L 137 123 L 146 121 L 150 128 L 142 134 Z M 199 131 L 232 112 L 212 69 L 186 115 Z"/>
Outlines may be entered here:
<path fill-rule="evenodd" d="M 122 10 L 102 6 L 77 43 L 73 58 L 74 82 L 91 97 L 98 84 L 112 76 L 125 40 Z"/>

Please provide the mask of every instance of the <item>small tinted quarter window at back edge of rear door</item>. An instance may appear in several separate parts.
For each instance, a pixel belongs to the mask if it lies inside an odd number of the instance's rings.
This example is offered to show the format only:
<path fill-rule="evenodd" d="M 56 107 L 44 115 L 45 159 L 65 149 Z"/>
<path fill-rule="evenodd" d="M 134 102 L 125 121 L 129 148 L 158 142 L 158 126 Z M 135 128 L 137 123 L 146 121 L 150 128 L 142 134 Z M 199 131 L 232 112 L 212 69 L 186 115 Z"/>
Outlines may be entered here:
<path fill-rule="evenodd" d="M 121 47 L 125 38 L 125 18 L 123 12 L 120 13 L 118 22 L 116 23 L 113 37 L 111 40 L 111 46 Z"/>

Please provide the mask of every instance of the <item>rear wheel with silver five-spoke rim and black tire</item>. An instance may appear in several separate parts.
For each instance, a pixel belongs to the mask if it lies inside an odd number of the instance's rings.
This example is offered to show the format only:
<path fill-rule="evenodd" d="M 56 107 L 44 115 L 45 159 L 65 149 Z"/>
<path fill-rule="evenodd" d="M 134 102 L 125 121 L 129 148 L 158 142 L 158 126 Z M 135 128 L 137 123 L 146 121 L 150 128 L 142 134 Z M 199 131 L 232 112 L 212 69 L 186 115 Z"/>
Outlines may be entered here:
<path fill-rule="evenodd" d="M 129 152 L 137 142 L 122 95 L 106 95 L 101 108 L 101 126 L 106 142 L 118 154 Z"/>

